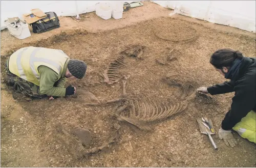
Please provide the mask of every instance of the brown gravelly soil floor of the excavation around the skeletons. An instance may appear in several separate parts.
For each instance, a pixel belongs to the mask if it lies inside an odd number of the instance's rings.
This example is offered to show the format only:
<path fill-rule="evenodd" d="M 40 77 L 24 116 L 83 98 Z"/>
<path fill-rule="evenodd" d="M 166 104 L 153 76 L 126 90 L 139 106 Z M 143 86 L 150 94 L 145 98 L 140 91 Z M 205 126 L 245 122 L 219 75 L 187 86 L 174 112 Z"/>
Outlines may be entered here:
<path fill-rule="evenodd" d="M 1 32 L 1 166 L 255 167 L 255 144 L 233 133 L 238 145 L 231 148 L 218 137 L 233 93 L 195 95 L 182 113 L 154 123 L 152 131 L 134 131 L 120 123 L 117 142 L 88 158 L 76 159 L 72 155 L 74 144 L 65 145 L 60 130 L 70 133 L 74 127 L 88 129 L 91 143 L 84 148 L 100 147 L 116 130 L 116 103 L 86 105 L 81 103 L 89 101 L 86 96 L 28 101 L 5 85 L 5 61 L 12 52 L 25 46 L 55 48 L 88 65 L 86 77 L 68 80 L 67 86 L 89 91 L 100 102 L 115 99 L 122 94 L 122 81 L 106 85 L 101 72 L 121 51 L 143 45 L 140 58 L 125 57 L 122 73 L 131 75 L 126 83 L 127 95 L 137 98 L 143 93 L 160 103 L 175 104 L 181 101 L 182 89 L 167 85 L 163 81 L 166 75 L 177 74 L 169 78 L 181 86 L 189 83 L 194 88 L 208 87 L 225 81 L 209 64 L 215 50 L 228 47 L 255 57 L 253 33 L 180 15 L 168 16 L 172 10 L 150 2 L 143 4 L 124 12 L 119 20 L 103 20 L 95 12 L 82 15 L 80 22 L 60 17 L 59 29 L 43 34 L 31 32 L 31 37 L 24 40 Z M 207 135 L 200 133 L 197 117 L 212 120 L 217 131 L 212 138 L 218 150 L 211 146 Z"/>

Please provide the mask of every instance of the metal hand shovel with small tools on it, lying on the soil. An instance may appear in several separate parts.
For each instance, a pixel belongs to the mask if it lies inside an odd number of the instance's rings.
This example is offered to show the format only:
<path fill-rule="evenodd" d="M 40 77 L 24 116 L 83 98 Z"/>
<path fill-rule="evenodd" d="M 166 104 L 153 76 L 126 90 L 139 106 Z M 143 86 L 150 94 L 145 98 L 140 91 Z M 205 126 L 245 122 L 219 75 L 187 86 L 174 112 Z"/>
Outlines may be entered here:
<path fill-rule="evenodd" d="M 211 137 L 212 134 L 215 134 L 214 126 L 212 125 L 211 119 L 197 118 L 197 122 L 199 124 L 201 133 L 208 135 L 212 146 L 214 146 L 214 149 L 218 149 L 214 142 L 214 139 L 212 139 Z"/>

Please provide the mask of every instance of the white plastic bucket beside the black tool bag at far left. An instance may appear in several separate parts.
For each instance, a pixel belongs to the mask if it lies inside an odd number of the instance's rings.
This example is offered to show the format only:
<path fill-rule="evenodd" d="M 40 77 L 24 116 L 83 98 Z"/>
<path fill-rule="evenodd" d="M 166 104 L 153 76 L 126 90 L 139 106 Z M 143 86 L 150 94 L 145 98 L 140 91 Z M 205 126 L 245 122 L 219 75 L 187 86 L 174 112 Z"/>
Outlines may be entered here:
<path fill-rule="evenodd" d="M 9 23 L 8 20 L 6 20 L 5 24 L 11 35 L 18 39 L 25 39 L 31 36 L 28 23 L 23 23 L 22 21 L 19 21 L 17 22 L 16 27 L 14 23 Z"/>

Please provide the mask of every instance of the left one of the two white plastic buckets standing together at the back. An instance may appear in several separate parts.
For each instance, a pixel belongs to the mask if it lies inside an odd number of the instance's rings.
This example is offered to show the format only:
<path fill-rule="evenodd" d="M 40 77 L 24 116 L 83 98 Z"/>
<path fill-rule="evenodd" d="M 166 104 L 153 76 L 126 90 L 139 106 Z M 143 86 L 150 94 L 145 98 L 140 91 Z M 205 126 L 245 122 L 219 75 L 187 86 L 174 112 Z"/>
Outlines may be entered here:
<path fill-rule="evenodd" d="M 108 3 L 98 3 L 96 4 L 96 15 L 102 19 L 110 19 L 112 14 L 112 8 Z"/>

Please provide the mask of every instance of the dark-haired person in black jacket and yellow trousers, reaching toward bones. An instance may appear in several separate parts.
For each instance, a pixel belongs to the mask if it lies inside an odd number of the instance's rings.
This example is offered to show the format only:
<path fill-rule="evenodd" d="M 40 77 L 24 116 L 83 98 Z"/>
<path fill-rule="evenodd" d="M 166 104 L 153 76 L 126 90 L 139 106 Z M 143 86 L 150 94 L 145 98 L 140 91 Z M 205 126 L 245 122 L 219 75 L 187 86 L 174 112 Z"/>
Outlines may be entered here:
<path fill-rule="evenodd" d="M 200 87 L 200 94 L 223 94 L 234 92 L 231 109 L 227 112 L 219 130 L 220 139 L 227 146 L 234 147 L 237 142 L 231 129 L 240 136 L 256 143 L 256 61 L 255 58 L 244 57 L 240 51 L 219 49 L 211 55 L 210 64 L 226 79 L 222 84 L 209 88 Z"/>

